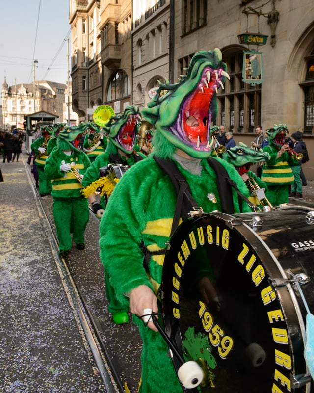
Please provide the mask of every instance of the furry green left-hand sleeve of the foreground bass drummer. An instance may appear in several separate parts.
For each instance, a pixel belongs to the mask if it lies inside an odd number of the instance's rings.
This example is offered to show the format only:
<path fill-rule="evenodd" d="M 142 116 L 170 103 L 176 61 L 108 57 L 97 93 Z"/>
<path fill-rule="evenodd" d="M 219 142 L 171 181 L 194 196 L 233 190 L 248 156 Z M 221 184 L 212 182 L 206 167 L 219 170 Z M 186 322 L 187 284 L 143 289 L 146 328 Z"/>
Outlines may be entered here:
<path fill-rule="evenodd" d="M 139 203 L 136 183 L 140 179 L 132 177 L 132 169 L 116 185 L 100 221 L 100 257 L 117 299 L 124 304 L 128 303 L 124 294 L 131 289 L 141 284 L 153 289 L 141 248 L 146 201 L 141 195 Z"/>

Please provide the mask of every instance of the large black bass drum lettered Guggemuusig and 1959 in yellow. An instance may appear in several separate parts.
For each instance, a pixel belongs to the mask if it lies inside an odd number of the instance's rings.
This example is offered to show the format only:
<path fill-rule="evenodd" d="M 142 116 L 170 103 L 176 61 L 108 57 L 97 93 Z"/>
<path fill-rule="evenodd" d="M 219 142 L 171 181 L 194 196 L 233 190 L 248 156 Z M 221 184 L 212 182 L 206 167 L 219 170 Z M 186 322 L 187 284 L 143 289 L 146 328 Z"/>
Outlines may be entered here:
<path fill-rule="evenodd" d="M 205 371 L 185 391 L 314 392 L 302 301 L 303 293 L 313 313 L 313 256 L 310 208 L 183 221 L 169 242 L 160 295 L 167 335 Z"/>

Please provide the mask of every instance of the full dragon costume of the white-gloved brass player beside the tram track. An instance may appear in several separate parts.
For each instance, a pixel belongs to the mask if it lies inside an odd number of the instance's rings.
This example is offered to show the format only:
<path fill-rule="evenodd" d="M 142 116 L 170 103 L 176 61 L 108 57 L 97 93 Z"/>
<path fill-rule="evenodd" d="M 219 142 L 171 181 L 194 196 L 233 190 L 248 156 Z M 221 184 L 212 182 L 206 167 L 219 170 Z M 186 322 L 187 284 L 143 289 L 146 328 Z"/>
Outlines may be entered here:
<path fill-rule="evenodd" d="M 62 165 L 69 164 L 79 175 L 84 175 L 90 166 L 89 158 L 77 148 L 81 133 L 79 127 L 66 127 L 60 131 L 57 146 L 45 165 L 45 174 L 52 180 L 53 218 L 59 252 L 64 255 L 72 247 L 71 233 L 77 248 L 85 247 L 84 232 L 89 220 L 88 202 L 80 192 L 83 186 L 71 170 L 65 172 L 61 168 Z"/>

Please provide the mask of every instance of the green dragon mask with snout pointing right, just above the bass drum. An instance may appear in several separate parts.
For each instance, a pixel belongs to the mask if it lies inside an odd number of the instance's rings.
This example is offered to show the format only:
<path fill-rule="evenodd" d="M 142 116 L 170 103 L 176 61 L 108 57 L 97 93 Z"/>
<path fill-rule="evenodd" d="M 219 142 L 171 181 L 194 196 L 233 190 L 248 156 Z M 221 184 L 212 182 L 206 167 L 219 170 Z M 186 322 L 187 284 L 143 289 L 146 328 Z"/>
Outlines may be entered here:
<path fill-rule="evenodd" d="M 240 175 L 246 173 L 250 166 L 262 161 L 268 161 L 269 153 L 263 152 L 262 149 L 252 149 L 240 142 L 238 146 L 232 147 L 224 155 L 224 159 L 234 165 Z"/>

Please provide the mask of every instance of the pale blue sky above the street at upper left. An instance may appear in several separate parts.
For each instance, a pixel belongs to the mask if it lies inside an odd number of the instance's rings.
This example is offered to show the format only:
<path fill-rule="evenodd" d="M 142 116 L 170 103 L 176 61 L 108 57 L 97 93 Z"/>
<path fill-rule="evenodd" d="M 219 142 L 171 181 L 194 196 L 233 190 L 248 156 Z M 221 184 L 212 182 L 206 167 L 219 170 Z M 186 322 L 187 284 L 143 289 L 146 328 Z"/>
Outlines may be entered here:
<path fill-rule="evenodd" d="M 35 79 L 67 83 L 70 0 L 0 1 L 0 86 Z M 38 63 L 34 63 L 37 60 Z M 68 66 L 69 64 L 69 66 Z M 70 77 L 71 80 L 71 77 Z"/>

